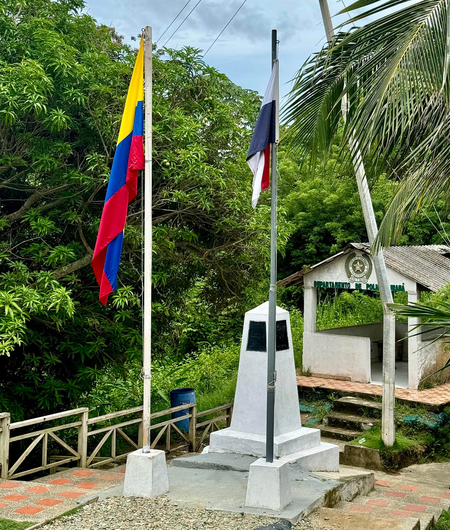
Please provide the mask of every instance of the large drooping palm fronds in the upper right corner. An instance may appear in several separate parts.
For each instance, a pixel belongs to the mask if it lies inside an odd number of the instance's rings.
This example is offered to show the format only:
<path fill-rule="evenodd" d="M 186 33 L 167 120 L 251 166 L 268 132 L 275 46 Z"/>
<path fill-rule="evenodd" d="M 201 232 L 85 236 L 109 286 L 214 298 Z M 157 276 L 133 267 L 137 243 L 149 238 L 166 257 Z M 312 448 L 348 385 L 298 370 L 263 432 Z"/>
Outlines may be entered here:
<path fill-rule="evenodd" d="M 307 61 L 285 118 L 293 145 L 314 162 L 330 153 L 347 93 L 343 145 L 357 140 L 372 178 L 386 172 L 401 182 L 380 226 L 380 242 L 392 244 L 424 205 L 441 199 L 448 205 L 448 3 L 375 4 L 358 0 L 344 10 L 367 8 L 350 22 L 390 11 L 337 34 Z"/>

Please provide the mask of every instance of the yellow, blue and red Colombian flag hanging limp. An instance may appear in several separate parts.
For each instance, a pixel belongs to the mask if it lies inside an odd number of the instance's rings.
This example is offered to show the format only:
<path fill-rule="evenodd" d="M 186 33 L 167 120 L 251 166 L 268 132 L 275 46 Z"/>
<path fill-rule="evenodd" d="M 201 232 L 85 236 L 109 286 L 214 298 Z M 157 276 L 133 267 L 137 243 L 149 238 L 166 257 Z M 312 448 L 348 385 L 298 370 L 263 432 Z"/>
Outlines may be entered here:
<path fill-rule="evenodd" d="M 128 204 L 136 198 L 138 171 L 144 169 L 142 102 L 143 39 L 131 76 L 92 257 L 92 268 L 100 286 L 98 298 L 103 305 L 106 305 L 108 295 L 117 288 L 117 271 Z"/>

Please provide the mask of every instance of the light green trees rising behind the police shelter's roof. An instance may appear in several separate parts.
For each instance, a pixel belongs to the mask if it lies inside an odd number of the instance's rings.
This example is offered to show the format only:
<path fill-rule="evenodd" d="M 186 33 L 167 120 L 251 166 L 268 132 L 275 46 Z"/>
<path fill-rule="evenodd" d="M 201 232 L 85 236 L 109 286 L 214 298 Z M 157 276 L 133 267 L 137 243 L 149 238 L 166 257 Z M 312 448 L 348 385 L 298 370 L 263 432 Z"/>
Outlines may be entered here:
<path fill-rule="evenodd" d="M 340 133 L 330 155 L 318 157 L 313 174 L 308 155 L 303 161 L 300 153 L 280 148 L 279 198 L 293 229 L 285 257 L 278 260 L 278 278 L 330 257 L 349 242 L 367 241 L 353 168 L 341 157 Z M 378 224 L 398 187 L 385 174 L 374 182 L 371 196 Z M 447 219 L 445 202 L 435 201 L 407 222 L 398 243 L 442 244 L 441 227 L 450 228 Z"/>

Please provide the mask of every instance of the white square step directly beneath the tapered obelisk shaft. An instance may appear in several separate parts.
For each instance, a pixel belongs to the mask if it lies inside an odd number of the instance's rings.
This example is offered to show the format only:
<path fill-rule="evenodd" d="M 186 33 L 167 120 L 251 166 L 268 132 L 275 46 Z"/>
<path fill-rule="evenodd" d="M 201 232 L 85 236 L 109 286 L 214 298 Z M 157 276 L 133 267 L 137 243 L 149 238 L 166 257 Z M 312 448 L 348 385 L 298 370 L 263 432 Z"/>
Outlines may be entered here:
<path fill-rule="evenodd" d="M 301 427 L 274 437 L 274 456 L 280 458 L 293 453 L 301 453 L 320 446 L 319 429 Z M 266 456 L 266 437 L 249 434 L 231 428 L 211 432 L 210 453 L 236 453 L 240 455 Z"/>

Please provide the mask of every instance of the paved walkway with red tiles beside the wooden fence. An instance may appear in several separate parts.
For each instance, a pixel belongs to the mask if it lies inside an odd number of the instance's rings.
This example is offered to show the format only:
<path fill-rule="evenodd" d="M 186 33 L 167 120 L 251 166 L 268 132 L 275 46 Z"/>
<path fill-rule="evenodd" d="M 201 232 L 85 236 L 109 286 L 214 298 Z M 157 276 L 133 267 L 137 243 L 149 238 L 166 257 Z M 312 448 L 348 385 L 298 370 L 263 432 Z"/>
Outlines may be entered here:
<path fill-rule="evenodd" d="M 40 523 L 75 508 L 77 501 L 123 482 L 125 465 L 110 470 L 71 467 L 29 482 L 0 480 L 0 518 Z"/>

